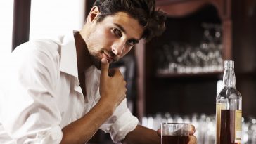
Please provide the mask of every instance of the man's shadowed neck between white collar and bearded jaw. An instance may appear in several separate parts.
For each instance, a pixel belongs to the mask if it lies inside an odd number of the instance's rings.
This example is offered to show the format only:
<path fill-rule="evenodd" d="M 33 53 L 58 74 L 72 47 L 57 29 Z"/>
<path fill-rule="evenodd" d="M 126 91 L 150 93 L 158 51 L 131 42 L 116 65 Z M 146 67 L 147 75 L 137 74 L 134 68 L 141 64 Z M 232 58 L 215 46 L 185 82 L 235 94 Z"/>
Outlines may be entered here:
<path fill-rule="evenodd" d="M 77 68 L 78 74 L 85 72 L 91 65 L 91 58 L 87 48 L 87 44 L 79 32 L 74 33 L 75 47 L 77 50 Z"/>

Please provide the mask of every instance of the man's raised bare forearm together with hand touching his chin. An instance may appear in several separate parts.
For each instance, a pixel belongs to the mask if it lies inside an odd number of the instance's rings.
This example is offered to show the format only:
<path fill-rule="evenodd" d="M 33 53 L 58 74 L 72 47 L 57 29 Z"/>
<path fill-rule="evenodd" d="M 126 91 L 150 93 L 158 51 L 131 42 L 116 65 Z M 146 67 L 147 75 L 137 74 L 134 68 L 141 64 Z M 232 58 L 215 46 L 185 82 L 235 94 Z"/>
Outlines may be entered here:
<path fill-rule="evenodd" d="M 87 114 L 62 129 L 61 144 L 87 143 L 105 120 L 113 114 L 117 105 L 124 100 L 126 82 L 119 70 L 113 70 L 109 76 L 108 67 L 108 60 L 101 60 L 101 99 Z"/>

